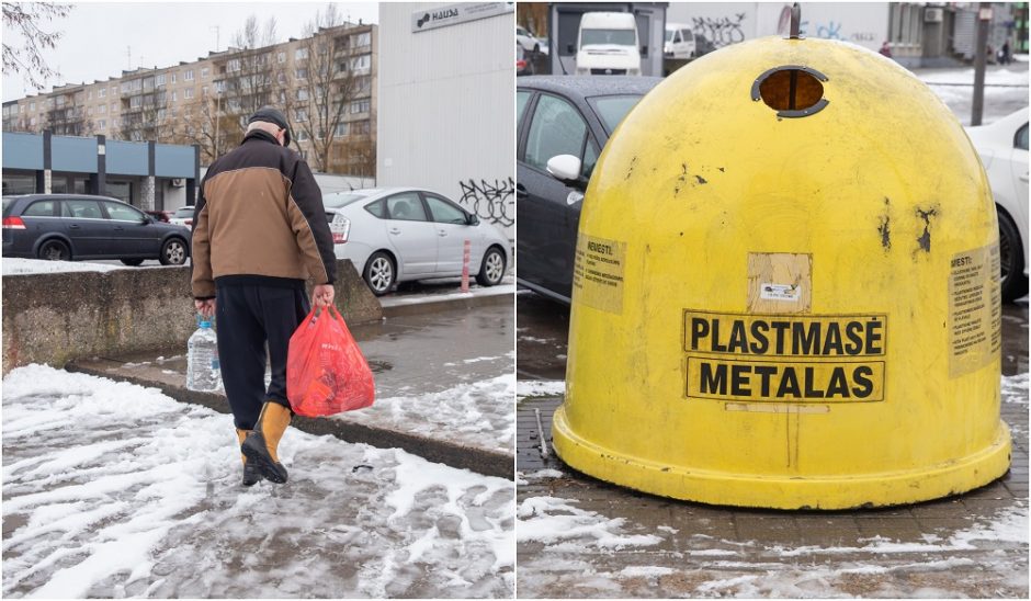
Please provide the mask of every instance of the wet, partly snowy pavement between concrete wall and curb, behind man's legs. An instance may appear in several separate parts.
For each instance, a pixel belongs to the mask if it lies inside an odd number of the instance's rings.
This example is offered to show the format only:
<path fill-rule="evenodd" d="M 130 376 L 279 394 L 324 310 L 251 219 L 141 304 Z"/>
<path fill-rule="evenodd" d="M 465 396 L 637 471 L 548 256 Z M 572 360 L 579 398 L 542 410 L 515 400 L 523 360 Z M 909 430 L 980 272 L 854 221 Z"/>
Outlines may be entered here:
<path fill-rule="evenodd" d="M 375 375 L 376 402 L 296 426 L 511 477 L 513 321 L 511 305 L 501 304 L 356 326 L 352 333 Z M 223 395 L 185 389 L 185 358 L 175 352 L 183 350 L 77 361 L 69 370 L 159 387 L 177 400 L 228 411 Z"/>

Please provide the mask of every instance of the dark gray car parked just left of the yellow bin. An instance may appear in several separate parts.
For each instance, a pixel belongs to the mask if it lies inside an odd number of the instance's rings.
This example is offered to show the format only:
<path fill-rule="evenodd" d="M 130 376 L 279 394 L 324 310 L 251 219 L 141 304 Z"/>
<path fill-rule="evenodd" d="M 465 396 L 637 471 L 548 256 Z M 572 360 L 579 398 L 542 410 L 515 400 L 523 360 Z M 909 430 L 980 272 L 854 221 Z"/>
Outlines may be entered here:
<path fill-rule="evenodd" d="M 601 149 L 626 113 L 661 78 L 534 76 L 516 89 L 516 281 L 569 303 L 584 190 Z M 547 170 L 548 160 L 571 155 L 580 175 L 569 185 Z"/>

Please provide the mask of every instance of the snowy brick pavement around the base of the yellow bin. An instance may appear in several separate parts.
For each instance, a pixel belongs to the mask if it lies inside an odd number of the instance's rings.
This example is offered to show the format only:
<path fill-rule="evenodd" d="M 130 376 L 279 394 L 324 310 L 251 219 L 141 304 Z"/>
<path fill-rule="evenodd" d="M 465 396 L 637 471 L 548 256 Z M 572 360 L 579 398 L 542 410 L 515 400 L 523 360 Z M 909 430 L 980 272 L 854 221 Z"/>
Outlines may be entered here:
<path fill-rule="evenodd" d="M 1024 332 L 1027 330 L 1023 330 Z M 611 486 L 540 456 L 562 382 L 518 384 L 521 598 L 1028 598 L 1028 374 L 1002 378 L 1012 467 L 958 497 L 866 511 L 760 511 Z"/>

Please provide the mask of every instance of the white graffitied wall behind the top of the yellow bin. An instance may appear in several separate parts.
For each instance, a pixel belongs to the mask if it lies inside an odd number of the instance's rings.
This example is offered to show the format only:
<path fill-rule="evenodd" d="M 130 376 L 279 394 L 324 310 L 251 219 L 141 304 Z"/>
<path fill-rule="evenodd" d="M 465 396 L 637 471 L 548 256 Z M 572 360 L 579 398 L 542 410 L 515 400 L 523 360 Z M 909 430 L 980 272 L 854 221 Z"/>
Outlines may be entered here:
<path fill-rule="evenodd" d="M 789 2 L 670 2 L 667 23 L 691 25 L 717 47 L 767 35 L 779 35 L 781 11 Z M 841 39 L 879 50 L 888 34 L 887 2 L 805 2 L 802 33 Z M 786 32 L 785 32 L 786 33 Z"/>

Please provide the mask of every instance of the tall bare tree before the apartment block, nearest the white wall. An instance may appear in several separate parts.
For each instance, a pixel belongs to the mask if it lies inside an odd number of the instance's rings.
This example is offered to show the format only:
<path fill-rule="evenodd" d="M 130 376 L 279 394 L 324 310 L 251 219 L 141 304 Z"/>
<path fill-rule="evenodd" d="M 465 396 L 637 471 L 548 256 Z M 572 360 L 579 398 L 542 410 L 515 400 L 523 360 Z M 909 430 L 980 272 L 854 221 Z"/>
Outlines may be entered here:
<path fill-rule="evenodd" d="M 351 27 L 347 25 L 336 4 L 316 13 L 315 21 L 305 26 L 305 58 L 298 64 L 292 87 L 296 94 L 291 99 L 296 105 L 292 115 L 295 127 L 307 135 L 315 167 L 322 172 L 332 169 L 331 151 L 339 141 L 339 126 L 362 84 L 359 73 L 364 68 L 359 57 L 352 56 Z"/>

